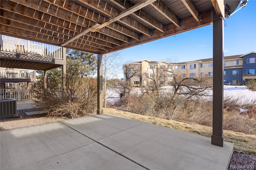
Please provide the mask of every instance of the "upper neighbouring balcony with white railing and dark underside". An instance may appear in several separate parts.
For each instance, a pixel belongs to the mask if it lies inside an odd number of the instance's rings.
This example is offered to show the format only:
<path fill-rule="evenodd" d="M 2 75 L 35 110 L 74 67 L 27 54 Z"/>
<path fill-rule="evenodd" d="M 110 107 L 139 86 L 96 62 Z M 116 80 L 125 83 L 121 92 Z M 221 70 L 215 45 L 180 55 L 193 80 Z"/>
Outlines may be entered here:
<path fill-rule="evenodd" d="M 56 45 L 0 35 L 0 67 L 49 70 L 66 65 L 66 49 Z M 16 77 L 10 74 L 10 77 Z M 7 77 L 7 75 L 6 75 Z"/>

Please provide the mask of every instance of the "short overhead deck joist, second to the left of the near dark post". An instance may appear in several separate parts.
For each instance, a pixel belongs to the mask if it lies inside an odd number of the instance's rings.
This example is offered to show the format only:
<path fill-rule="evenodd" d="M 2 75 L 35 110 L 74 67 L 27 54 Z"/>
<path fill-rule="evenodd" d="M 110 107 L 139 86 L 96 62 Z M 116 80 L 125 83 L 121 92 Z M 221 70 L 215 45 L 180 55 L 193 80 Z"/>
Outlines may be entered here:
<path fill-rule="evenodd" d="M 170 8 L 168 8 L 168 6 L 166 6 L 164 4 L 164 2 L 158 0 L 156 2 L 153 2 L 151 5 L 156 10 L 158 10 L 158 12 L 160 12 L 163 16 L 168 18 L 168 20 L 170 20 L 177 27 L 180 26 L 180 20 L 179 20 L 178 16 L 176 16 L 176 14 L 174 14 L 174 12 L 172 12 L 172 10 L 170 10 Z"/>

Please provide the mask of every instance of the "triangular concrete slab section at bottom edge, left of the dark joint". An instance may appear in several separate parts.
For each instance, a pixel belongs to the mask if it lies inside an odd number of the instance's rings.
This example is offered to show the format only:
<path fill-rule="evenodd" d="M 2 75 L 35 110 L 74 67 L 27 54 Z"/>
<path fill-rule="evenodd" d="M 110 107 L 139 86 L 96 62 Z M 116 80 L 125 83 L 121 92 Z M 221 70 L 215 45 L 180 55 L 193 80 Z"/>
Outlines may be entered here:
<path fill-rule="evenodd" d="M 94 142 L 25 170 L 140 170 L 138 164 Z"/>

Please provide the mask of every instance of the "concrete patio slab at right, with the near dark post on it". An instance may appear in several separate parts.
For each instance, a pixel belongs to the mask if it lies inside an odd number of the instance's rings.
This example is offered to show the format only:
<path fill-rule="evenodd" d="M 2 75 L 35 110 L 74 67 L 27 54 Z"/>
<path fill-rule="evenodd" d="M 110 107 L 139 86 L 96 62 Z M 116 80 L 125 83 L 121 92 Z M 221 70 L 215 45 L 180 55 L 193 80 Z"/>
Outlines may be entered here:
<path fill-rule="evenodd" d="M 129 136 L 129 137 L 127 137 Z M 118 142 L 116 142 L 118 141 Z M 148 169 L 227 169 L 233 144 L 211 144 L 211 138 L 144 123 L 98 142 Z"/>

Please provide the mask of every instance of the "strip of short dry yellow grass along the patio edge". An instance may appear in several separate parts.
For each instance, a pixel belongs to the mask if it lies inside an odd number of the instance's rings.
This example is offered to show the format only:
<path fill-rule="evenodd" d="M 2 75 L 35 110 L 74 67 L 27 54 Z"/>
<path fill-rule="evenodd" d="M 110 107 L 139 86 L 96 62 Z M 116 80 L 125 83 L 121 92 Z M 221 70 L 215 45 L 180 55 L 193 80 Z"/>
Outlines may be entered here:
<path fill-rule="evenodd" d="M 182 130 L 185 132 L 199 134 L 202 136 L 210 137 L 212 135 L 212 128 L 204 125 L 160 119 L 156 117 L 139 115 L 136 113 L 131 113 L 128 111 L 122 111 L 120 109 L 113 109 L 113 108 L 104 108 L 104 113 L 118 115 L 121 117 L 126 117 L 126 118 L 130 118 L 130 119 L 134 119 L 142 122 L 152 123 L 152 124 L 160 125 L 163 127 Z M 224 130 L 223 133 L 225 136 L 224 140 L 227 142 L 233 143 L 235 151 L 256 155 L 256 135 L 244 134 L 241 132 L 233 132 L 231 130 Z"/>

